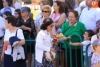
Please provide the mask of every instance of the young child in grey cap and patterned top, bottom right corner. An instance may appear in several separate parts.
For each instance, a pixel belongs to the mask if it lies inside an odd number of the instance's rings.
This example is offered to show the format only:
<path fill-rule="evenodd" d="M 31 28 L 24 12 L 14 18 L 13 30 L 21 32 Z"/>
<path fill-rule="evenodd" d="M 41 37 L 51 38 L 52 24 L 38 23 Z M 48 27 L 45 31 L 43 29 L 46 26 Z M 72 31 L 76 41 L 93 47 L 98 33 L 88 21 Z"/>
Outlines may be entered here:
<path fill-rule="evenodd" d="M 92 55 L 91 67 L 100 67 L 100 40 L 95 40 L 92 43 L 92 47 L 95 52 Z"/>

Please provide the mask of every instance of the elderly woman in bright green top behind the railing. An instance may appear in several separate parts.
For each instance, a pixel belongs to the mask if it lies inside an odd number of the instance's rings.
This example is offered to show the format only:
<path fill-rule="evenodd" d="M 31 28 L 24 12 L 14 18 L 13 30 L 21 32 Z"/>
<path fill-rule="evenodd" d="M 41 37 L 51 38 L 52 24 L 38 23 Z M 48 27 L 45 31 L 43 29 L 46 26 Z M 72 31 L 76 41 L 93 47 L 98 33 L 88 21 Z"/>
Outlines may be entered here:
<path fill-rule="evenodd" d="M 72 67 L 76 67 L 76 64 L 78 64 L 78 67 L 81 67 L 81 50 L 78 49 L 76 47 L 73 47 L 73 46 L 70 46 L 69 45 L 69 36 L 73 35 L 73 34 L 79 34 L 80 36 L 82 36 L 85 31 L 86 31 L 86 28 L 84 26 L 83 23 L 77 21 L 78 19 L 78 12 L 77 11 L 70 11 L 69 14 L 68 14 L 68 19 L 69 19 L 69 22 L 65 22 L 62 26 L 62 30 L 61 30 L 61 33 L 66 37 L 65 38 L 65 43 L 66 43 L 66 46 L 65 47 L 64 45 L 62 45 L 62 48 L 63 49 L 66 49 L 67 48 L 67 62 L 68 62 L 68 67 L 70 67 L 70 47 L 71 47 L 71 50 L 72 50 Z M 77 38 L 74 38 L 73 41 L 76 41 Z M 75 52 L 76 52 L 76 55 L 75 55 Z M 77 58 L 77 59 L 75 59 Z M 76 60 L 77 60 L 77 63 L 76 63 Z"/>

